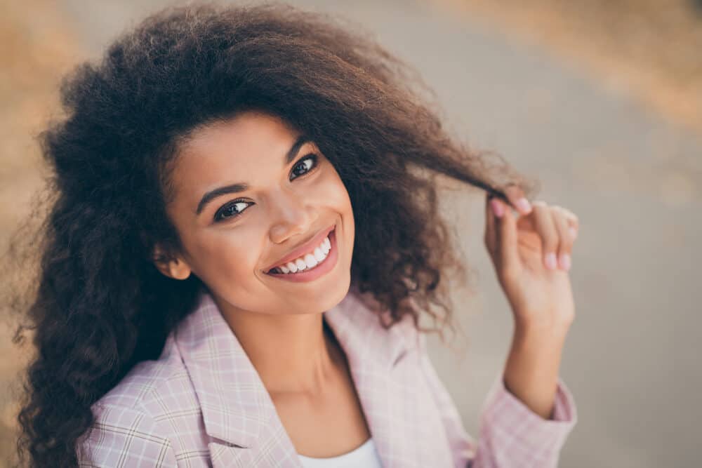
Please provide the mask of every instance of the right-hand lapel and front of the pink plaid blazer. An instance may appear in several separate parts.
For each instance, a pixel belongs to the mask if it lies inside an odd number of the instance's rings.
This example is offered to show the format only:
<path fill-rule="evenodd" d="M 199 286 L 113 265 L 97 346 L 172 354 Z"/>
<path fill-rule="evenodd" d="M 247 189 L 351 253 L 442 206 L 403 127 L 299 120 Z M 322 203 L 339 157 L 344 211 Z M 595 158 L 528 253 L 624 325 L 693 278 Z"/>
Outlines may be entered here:
<path fill-rule="evenodd" d="M 352 287 L 324 315 L 347 356 L 380 461 L 385 468 L 451 467 L 442 420 L 418 361 L 419 335 L 411 316 L 385 329 L 377 310 L 370 295 Z"/>

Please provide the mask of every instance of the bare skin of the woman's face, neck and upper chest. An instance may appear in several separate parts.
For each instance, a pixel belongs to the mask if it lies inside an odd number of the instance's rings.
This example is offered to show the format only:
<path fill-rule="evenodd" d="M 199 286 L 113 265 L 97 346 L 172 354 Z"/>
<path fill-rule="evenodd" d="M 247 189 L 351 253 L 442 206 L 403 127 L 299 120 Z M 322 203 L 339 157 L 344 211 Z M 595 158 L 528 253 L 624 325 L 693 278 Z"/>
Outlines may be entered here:
<path fill-rule="evenodd" d="M 298 135 L 261 112 L 194 133 L 181 149 L 173 171 L 176 196 L 167 207 L 183 252 L 157 267 L 172 278 L 196 274 L 205 283 L 298 453 L 328 457 L 369 438 L 343 351 L 322 321 L 322 312 L 350 286 L 355 227 L 345 186 L 314 143 L 284 163 Z M 316 165 L 305 161 L 310 153 L 317 154 Z M 245 182 L 249 190 L 218 196 L 196 213 L 205 192 L 234 182 Z M 232 201 L 234 210 L 216 222 Z M 338 247 L 331 272 L 307 283 L 263 272 L 331 225 Z"/>

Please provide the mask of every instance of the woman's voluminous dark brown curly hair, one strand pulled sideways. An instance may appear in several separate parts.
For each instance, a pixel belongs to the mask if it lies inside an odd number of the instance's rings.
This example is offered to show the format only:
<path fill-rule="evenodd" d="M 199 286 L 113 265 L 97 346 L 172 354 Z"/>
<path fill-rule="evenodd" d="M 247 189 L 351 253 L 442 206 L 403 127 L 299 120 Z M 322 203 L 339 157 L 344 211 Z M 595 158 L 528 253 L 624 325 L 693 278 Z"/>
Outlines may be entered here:
<path fill-rule="evenodd" d="M 25 318 L 15 342 L 30 332 L 37 349 L 20 460 L 75 466 L 92 403 L 156 359 L 194 306 L 197 276 L 170 279 L 152 256 L 181 246 L 165 210 L 171 170 L 193 131 L 246 109 L 293 123 L 335 166 L 362 234 L 352 283 L 390 312 L 384 326 L 406 314 L 418 329 L 420 315 L 451 324 L 446 279 L 466 283 L 466 271 L 437 176 L 505 200 L 507 185 L 531 194 L 534 182 L 452 138 L 416 71 L 343 21 L 278 3 L 167 8 L 63 77 L 65 112 L 37 135 L 50 168 L 38 268 L 31 293 L 8 301 Z"/>

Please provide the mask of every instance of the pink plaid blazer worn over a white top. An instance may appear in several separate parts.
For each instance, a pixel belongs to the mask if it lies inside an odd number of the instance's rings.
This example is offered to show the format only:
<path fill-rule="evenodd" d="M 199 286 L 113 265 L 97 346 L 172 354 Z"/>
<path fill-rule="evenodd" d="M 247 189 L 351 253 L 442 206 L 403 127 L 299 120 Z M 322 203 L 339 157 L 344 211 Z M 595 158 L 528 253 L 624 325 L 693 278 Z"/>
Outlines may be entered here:
<path fill-rule="evenodd" d="M 409 316 L 389 330 L 352 287 L 324 317 L 343 347 L 386 468 L 556 467 L 576 424 L 559 379 L 553 420 L 498 375 L 477 441 L 437 377 Z M 78 441 L 82 467 L 302 467 L 256 369 L 211 295 L 168 336 L 157 361 L 135 366 L 94 403 Z"/>

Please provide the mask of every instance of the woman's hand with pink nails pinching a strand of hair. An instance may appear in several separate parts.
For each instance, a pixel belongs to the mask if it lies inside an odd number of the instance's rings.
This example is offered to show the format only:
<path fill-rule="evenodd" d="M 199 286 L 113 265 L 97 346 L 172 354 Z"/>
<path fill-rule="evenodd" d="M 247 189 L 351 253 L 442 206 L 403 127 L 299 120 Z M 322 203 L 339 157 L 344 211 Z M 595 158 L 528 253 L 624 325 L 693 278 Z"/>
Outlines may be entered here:
<path fill-rule="evenodd" d="M 567 330 L 575 317 L 568 271 L 578 218 L 560 206 L 529 203 L 513 185 L 505 194 L 510 205 L 486 195 L 484 241 L 515 323 L 520 330 Z"/>

